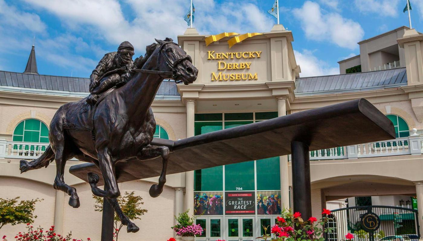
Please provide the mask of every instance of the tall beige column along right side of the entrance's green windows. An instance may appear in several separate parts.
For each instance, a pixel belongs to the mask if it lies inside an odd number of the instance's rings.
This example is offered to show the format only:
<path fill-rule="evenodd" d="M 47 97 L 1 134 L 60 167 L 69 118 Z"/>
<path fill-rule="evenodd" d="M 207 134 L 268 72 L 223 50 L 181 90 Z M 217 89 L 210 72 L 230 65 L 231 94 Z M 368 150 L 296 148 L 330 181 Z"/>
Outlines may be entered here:
<path fill-rule="evenodd" d="M 277 116 L 286 115 L 286 97 L 277 97 Z M 288 181 L 288 156 L 279 157 L 280 165 L 280 205 L 289 209 L 289 181 Z"/>

